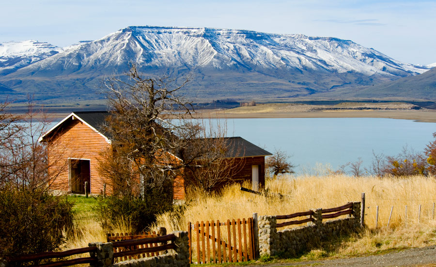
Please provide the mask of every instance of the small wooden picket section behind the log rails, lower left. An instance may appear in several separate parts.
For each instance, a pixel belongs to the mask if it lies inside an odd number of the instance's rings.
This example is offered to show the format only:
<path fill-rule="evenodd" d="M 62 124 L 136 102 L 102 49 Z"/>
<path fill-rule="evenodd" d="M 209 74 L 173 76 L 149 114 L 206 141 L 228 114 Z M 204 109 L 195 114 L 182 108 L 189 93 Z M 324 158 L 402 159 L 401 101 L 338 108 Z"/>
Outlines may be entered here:
<path fill-rule="evenodd" d="M 118 241 L 124 241 L 124 240 L 133 240 L 133 239 L 142 239 L 142 238 L 154 238 L 161 235 L 165 235 L 167 233 L 166 229 L 161 227 L 156 233 L 156 231 L 153 232 L 141 232 L 141 233 L 108 233 L 106 234 L 106 241 L 107 242 L 118 242 Z M 159 246 L 158 243 L 144 243 L 140 245 L 135 246 L 126 246 L 126 247 L 113 247 L 113 252 L 122 252 L 122 251 L 129 251 L 129 250 L 138 250 L 138 249 L 144 249 L 144 248 L 153 248 Z M 155 253 L 156 252 L 156 253 Z M 162 255 L 164 252 L 160 252 L 160 255 Z M 130 259 L 137 259 L 139 257 L 154 257 L 158 256 L 159 252 L 153 251 L 149 253 L 143 253 L 142 255 L 134 255 L 134 256 L 124 256 L 123 257 L 114 257 L 114 262 L 119 262 L 122 260 L 130 260 Z"/>

